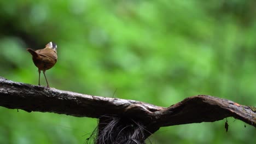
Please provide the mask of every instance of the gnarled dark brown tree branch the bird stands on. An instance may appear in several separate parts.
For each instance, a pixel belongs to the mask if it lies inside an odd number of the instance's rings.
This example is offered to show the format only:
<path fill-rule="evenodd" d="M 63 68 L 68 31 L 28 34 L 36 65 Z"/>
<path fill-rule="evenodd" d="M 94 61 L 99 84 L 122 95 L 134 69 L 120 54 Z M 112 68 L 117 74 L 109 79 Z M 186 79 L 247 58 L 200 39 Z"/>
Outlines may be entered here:
<path fill-rule="evenodd" d="M 256 127 L 255 107 L 233 101 L 197 95 L 160 107 L 135 100 L 98 97 L 55 88 L 13 82 L 0 77 L 0 106 L 27 112 L 54 112 L 75 117 L 129 117 L 142 122 L 150 132 L 177 124 L 214 122 L 226 117 L 240 119 Z"/>

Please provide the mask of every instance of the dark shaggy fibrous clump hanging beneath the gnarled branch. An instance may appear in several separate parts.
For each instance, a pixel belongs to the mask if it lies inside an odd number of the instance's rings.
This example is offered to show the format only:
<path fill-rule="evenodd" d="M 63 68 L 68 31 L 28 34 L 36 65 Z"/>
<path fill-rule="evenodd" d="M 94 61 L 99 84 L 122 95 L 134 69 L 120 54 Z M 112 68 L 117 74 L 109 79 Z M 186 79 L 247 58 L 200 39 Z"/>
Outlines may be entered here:
<path fill-rule="evenodd" d="M 142 123 L 127 117 L 101 117 L 97 128 L 98 131 L 94 131 L 94 133 L 98 133 L 96 140 L 94 140 L 96 144 L 145 143 L 144 141 L 147 139 L 146 133 L 150 133 Z"/>

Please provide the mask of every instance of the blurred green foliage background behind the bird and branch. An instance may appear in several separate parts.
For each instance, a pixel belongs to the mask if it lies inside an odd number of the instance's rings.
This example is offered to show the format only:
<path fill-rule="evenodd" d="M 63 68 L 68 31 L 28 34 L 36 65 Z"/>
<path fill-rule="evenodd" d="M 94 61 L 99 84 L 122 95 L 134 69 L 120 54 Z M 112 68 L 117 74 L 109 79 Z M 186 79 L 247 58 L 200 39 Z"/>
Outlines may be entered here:
<path fill-rule="evenodd" d="M 54 41 L 51 87 L 170 106 L 197 94 L 256 106 L 256 1 L 1 1 L 0 76 L 37 85 L 26 51 Z M 41 77 L 46 85 L 44 77 Z M 0 143 L 85 143 L 97 119 L 0 107 Z M 234 118 L 161 128 L 152 143 L 253 143 Z M 246 128 L 245 128 L 246 125 Z M 150 141 L 148 140 L 147 143 Z"/>

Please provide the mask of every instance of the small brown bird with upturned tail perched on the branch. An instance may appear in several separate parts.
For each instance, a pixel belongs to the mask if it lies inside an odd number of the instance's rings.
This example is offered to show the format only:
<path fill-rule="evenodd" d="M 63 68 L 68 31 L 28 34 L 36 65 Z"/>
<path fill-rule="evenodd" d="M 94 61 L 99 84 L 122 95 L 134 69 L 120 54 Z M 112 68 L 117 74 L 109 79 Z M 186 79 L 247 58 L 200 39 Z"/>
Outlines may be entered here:
<path fill-rule="evenodd" d="M 36 51 L 32 49 L 27 49 L 27 51 L 31 53 L 34 65 L 36 65 L 36 67 L 38 68 L 38 85 L 40 86 L 40 73 L 41 70 L 43 70 L 47 87 L 49 87 L 48 81 L 45 76 L 45 70 L 52 68 L 54 64 L 57 62 L 57 45 L 50 42 L 45 46 L 44 49 Z"/>

